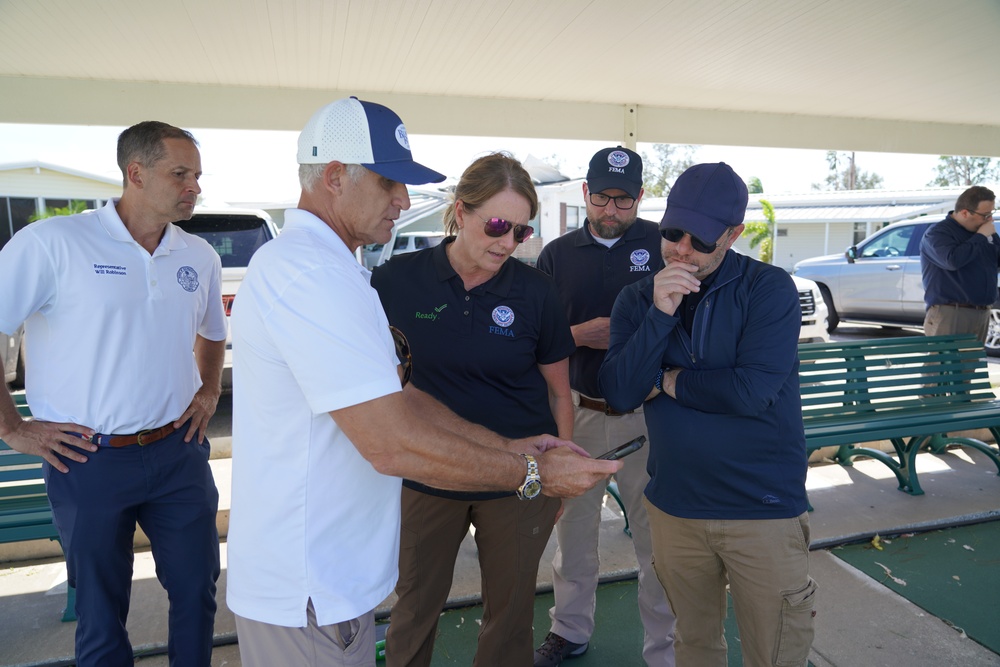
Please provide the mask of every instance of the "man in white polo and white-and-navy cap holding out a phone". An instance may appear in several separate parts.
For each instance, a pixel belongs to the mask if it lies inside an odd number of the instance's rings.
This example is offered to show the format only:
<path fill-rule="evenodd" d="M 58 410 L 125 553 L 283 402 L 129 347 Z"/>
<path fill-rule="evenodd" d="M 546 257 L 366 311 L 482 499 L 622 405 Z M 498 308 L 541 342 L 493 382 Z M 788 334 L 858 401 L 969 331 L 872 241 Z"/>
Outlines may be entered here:
<path fill-rule="evenodd" d="M 507 441 L 400 391 L 407 345 L 394 345 L 354 256 L 389 240 L 410 206 L 404 183 L 444 179 L 413 161 L 399 116 L 333 102 L 302 131 L 298 162 L 299 207 L 254 255 L 233 308 L 226 600 L 244 667 L 373 665 L 373 610 L 397 575 L 401 476 L 530 502 L 579 495 L 621 464 L 551 436 Z"/>

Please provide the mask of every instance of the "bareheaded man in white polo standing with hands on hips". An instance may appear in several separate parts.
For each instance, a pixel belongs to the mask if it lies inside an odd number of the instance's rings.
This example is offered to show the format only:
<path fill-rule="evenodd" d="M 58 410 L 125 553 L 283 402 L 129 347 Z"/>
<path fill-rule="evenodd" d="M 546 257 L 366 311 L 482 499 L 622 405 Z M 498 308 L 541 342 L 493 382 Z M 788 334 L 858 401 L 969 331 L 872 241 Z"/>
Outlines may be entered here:
<path fill-rule="evenodd" d="M 170 598 L 171 665 L 211 664 L 219 494 L 205 428 L 221 391 L 221 263 L 171 224 L 194 212 L 201 157 L 156 121 L 118 139 L 124 191 L 28 225 L 0 251 L 0 331 L 22 322 L 22 420 L 0 392 L 0 438 L 45 459 L 76 586 L 76 664 L 132 665 L 125 630 L 136 522 Z"/>

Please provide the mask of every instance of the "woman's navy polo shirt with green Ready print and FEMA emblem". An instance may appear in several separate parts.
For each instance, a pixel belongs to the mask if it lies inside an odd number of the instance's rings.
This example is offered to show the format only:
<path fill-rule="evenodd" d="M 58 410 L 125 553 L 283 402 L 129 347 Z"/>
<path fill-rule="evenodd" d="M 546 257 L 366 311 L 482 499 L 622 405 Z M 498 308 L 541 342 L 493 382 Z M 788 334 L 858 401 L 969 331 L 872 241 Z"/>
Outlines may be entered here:
<path fill-rule="evenodd" d="M 389 323 L 410 344 L 410 381 L 458 416 L 505 438 L 555 434 L 538 365 L 565 359 L 575 348 L 555 285 L 509 259 L 490 280 L 466 291 L 445 252 L 453 241 L 397 255 L 372 273 Z"/>

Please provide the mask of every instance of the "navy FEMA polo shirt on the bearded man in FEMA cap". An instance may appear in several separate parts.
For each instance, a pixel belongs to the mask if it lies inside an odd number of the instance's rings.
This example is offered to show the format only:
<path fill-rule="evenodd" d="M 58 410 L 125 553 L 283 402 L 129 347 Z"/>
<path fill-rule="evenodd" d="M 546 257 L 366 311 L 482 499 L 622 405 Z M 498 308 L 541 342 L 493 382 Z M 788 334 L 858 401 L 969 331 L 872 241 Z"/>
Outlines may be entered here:
<path fill-rule="evenodd" d="M 610 317 L 618 293 L 663 268 L 660 228 L 639 218 L 607 248 L 594 240 L 590 223 L 560 236 L 542 249 L 536 266 L 552 276 L 570 325 Z M 602 398 L 597 374 L 606 350 L 578 347 L 569 359 L 569 383 L 591 398 Z"/>

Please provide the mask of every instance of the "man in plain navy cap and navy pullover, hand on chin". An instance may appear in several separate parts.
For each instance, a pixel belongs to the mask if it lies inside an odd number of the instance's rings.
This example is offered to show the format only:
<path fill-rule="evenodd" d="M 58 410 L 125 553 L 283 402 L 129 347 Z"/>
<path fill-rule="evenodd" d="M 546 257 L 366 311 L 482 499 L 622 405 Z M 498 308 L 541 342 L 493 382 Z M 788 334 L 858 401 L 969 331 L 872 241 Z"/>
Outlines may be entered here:
<path fill-rule="evenodd" d="M 799 298 L 783 270 L 730 251 L 746 205 L 725 163 L 681 174 L 666 268 L 618 297 L 600 371 L 614 409 L 646 401 L 646 508 L 681 666 L 727 664 L 727 584 L 743 664 L 805 664 L 813 636 Z"/>

